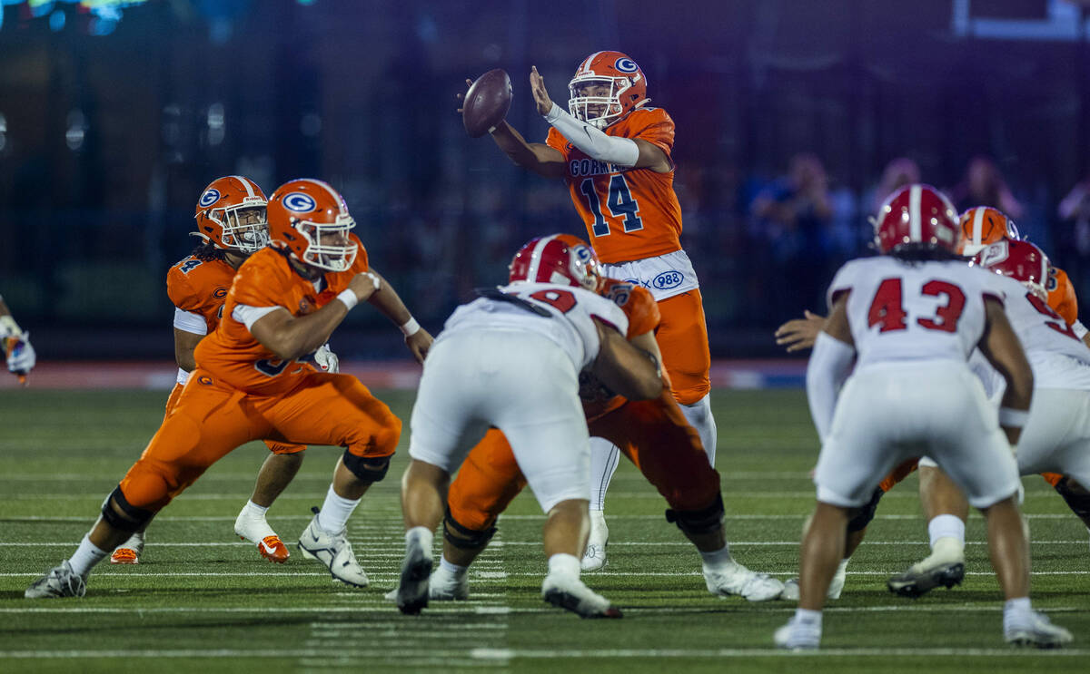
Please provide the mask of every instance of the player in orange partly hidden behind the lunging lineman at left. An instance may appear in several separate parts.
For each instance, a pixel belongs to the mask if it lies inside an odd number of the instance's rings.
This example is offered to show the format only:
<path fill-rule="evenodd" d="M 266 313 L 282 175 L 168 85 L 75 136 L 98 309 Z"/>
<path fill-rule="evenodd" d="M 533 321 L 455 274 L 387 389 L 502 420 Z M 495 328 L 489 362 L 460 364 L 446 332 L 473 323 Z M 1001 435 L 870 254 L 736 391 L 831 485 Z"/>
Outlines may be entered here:
<path fill-rule="evenodd" d="M 242 175 L 214 180 L 197 199 L 196 231 L 192 234 L 201 243 L 167 272 L 167 295 L 174 305 L 178 378 L 167 400 L 165 417 L 196 367 L 193 351 L 197 343 L 220 321 L 223 301 L 239 266 L 268 243 L 266 205 L 265 193 L 257 183 Z M 266 444 L 272 453 L 257 474 L 254 493 L 239 514 L 234 531 L 257 546 L 262 556 L 283 563 L 289 556 L 288 548 L 269 527 L 265 513 L 299 471 L 306 446 L 271 441 Z M 113 551 L 110 563 L 138 564 L 145 542 L 144 529 L 133 532 Z"/>

